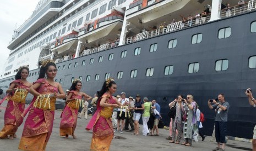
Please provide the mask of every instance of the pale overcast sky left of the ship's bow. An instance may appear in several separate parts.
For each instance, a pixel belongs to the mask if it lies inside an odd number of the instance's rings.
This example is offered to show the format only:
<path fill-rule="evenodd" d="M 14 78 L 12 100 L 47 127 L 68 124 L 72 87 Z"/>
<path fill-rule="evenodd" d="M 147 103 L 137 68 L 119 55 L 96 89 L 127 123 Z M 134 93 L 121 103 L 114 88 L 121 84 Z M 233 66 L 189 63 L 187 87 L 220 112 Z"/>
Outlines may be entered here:
<path fill-rule="evenodd" d="M 0 9 L 0 72 L 4 72 L 4 63 L 10 50 L 7 48 L 9 42 L 12 40 L 13 31 L 19 28 L 23 23 L 29 19 L 32 12 L 35 10 L 37 0 L 8 0 L 1 1 Z M 3 74 L 3 73 L 1 73 Z"/>

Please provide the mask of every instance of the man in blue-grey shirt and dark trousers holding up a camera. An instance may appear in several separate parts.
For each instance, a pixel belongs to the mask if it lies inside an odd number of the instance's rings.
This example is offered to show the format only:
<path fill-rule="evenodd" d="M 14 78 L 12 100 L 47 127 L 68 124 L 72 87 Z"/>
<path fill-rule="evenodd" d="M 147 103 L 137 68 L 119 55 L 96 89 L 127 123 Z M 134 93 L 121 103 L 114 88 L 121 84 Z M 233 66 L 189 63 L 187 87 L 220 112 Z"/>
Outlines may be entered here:
<path fill-rule="evenodd" d="M 208 100 L 208 106 L 210 109 L 216 109 L 215 115 L 215 138 L 217 142 L 217 147 L 213 149 L 214 151 L 225 150 L 226 144 L 226 134 L 227 134 L 227 113 L 230 108 L 230 104 L 225 101 L 224 94 L 218 95 L 218 100 Z M 214 105 L 211 105 L 213 103 Z M 220 146 L 222 143 L 222 147 Z"/>

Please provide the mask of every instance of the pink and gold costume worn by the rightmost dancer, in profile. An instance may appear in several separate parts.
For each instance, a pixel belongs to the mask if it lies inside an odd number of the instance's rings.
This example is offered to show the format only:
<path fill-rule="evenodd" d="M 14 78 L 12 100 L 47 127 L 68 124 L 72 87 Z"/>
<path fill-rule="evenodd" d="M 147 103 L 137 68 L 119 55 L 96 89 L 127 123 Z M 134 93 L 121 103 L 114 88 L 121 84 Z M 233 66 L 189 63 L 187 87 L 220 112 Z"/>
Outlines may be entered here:
<path fill-rule="evenodd" d="M 104 94 L 102 97 L 107 98 L 105 103 L 116 103 L 116 100 L 112 96 Z M 86 130 L 91 130 L 93 128 L 91 151 L 109 150 L 111 141 L 114 137 L 112 121 L 110 119 L 112 117 L 113 107 L 100 107 L 100 100 L 97 102 L 97 111 L 86 126 Z"/>

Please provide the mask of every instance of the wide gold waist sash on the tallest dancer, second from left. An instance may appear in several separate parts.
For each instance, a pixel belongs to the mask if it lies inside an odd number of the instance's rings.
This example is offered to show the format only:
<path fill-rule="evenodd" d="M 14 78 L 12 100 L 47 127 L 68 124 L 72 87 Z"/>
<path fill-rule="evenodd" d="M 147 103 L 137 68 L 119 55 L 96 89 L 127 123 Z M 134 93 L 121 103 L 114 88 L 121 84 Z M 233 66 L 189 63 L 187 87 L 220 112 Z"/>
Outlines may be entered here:
<path fill-rule="evenodd" d="M 37 96 L 33 106 L 47 111 L 55 110 L 56 97 L 53 95 L 39 95 Z"/>

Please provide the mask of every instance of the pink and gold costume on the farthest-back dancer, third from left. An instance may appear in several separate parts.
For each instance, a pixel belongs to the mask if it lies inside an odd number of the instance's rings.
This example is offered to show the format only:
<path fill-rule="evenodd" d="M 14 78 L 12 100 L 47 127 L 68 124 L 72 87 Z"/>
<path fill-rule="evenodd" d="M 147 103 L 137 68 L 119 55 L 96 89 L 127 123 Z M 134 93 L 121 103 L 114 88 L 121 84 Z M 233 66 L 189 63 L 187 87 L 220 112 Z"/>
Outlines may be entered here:
<path fill-rule="evenodd" d="M 75 100 L 68 102 L 63 110 L 61 124 L 59 125 L 60 136 L 73 135 L 75 127 L 77 127 L 78 109 L 81 104 L 79 100 L 82 96 L 78 95 L 76 91 L 70 92 L 73 94 L 71 98 L 75 98 Z"/>

